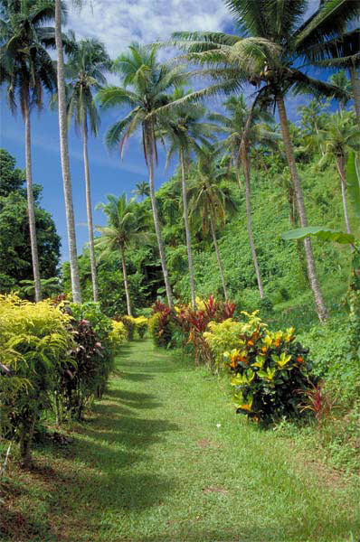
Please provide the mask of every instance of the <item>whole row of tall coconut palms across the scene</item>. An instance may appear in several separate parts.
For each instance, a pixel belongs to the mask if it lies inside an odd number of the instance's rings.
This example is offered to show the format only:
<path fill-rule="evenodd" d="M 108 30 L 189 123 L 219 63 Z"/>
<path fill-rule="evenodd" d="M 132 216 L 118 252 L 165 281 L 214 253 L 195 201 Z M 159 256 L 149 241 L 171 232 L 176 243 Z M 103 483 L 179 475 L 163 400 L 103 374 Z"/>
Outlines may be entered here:
<path fill-rule="evenodd" d="M 26 186 L 29 228 L 32 248 L 35 299 L 42 297 L 37 238 L 34 221 L 33 180 L 31 160 L 31 112 L 43 106 L 44 91 L 51 98 L 52 107 L 59 111 L 62 176 L 65 210 L 70 249 L 71 289 L 75 303 L 81 302 L 74 214 L 72 207 L 71 174 L 67 150 L 67 132 L 71 122 L 80 128 L 83 141 L 84 177 L 86 184 L 89 224 L 89 247 L 94 300 L 98 300 L 95 245 L 110 249 L 111 242 L 118 249 L 125 247 L 117 229 L 136 221 L 137 234 L 141 225 L 136 217 L 134 201 L 126 197 L 111 201 L 103 209 L 109 217 L 109 230 L 94 239 L 90 201 L 90 167 L 87 150 L 89 130 L 97 134 L 99 109 L 116 107 L 118 121 L 110 126 L 106 145 L 124 145 L 140 131 L 142 148 L 148 171 L 149 194 L 161 261 L 166 298 L 170 310 L 174 308 L 173 292 L 166 264 L 166 252 L 158 217 L 154 187 L 158 145 L 166 145 L 167 159 L 176 155 L 181 169 L 181 193 L 185 223 L 185 238 L 189 264 L 189 289 L 195 306 L 194 270 L 192 264 L 191 231 L 189 217 L 200 217 L 202 229 L 209 229 L 222 276 L 223 295 L 227 298 L 226 280 L 216 242 L 216 224 L 225 220 L 226 212 L 236 212 L 228 194 L 218 180 L 225 174 L 217 157 L 225 154 L 227 168 L 242 187 L 241 170 L 245 179 L 246 209 L 251 256 L 261 297 L 263 287 L 257 261 L 255 242 L 251 230 L 251 149 L 261 145 L 272 149 L 281 147 L 289 165 L 289 183 L 293 199 L 293 218 L 301 227 L 308 226 L 307 210 L 298 176 L 297 160 L 292 143 L 285 98 L 289 92 L 314 96 L 304 111 L 312 126 L 304 152 L 311 153 L 320 145 L 324 160 L 335 157 L 340 176 L 346 228 L 350 225 L 346 209 L 345 156 L 349 148 L 358 149 L 360 127 L 359 35 L 354 27 L 359 6 L 351 0 L 319 2 L 314 14 L 307 17 L 308 1 L 282 2 L 271 0 L 248 3 L 227 0 L 236 32 L 226 33 L 174 33 L 164 43 L 145 46 L 132 43 L 128 52 L 115 61 L 109 59 L 105 47 L 97 40 L 76 42 L 73 33 L 62 33 L 66 14 L 59 1 L 2 0 L 1 5 L 1 79 L 7 90 L 10 107 L 20 106 L 25 126 Z M 46 26 L 54 22 L 52 26 Z M 182 51 L 181 60 L 161 62 L 160 47 L 171 46 Z M 57 61 L 53 62 L 49 50 L 56 48 Z M 64 63 L 64 52 L 67 62 Z M 308 70 L 332 67 L 340 72 L 330 80 L 315 79 Z M 345 76 L 348 71 L 350 82 Z M 108 85 L 106 74 L 112 71 L 119 78 L 119 86 Z M 201 78 L 206 87 L 190 88 L 191 80 Z M 251 85 L 252 101 L 248 106 L 242 96 L 243 89 Z M 226 98 L 223 114 L 208 114 L 203 106 L 205 98 Z M 331 117 L 327 126 L 320 126 L 317 112 L 319 100 L 336 98 L 341 110 Z M 354 99 L 355 116 L 343 111 L 346 102 Z M 279 114 L 279 130 L 274 126 L 272 108 Z M 314 132 L 314 130 L 315 132 Z M 327 135 L 324 135 L 324 131 Z M 215 137 L 215 135 L 218 135 Z M 190 182 L 190 173 L 194 182 Z M 129 207 L 128 207 L 129 206 Z M 148 226 L 144 226 L 144 231 Z M 121 228 L 120 228 L 121 230 Z M 122 230 L 121 230 L 122 231 Z M 327 318 L 327 307 L 321 292 L 311 241 L 304 239 L 303 248 L 308 282 L 314 295 L 320 321 Z M 123 252 L 121 253 L 123 254 Z M 131 313 L 127 285 L 125 257 L 122 257 L 123 276 L 127 292 L 128 313 Z"/>

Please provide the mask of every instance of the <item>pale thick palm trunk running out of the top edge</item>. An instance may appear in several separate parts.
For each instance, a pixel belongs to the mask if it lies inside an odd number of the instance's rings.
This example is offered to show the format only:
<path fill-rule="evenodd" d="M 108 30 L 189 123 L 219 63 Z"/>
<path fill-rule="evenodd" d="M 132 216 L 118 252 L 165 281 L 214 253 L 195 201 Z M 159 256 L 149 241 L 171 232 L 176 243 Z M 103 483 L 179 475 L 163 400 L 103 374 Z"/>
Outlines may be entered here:
<path fill-rule="evenodd" d="M 62 49 L 62 2 L 55 0 L 55 42 L 58 53 L 58 97 L 59 97 L 59 131 L 60 154 L 62 159 L 62 182 L 65 199 L 66 222 L 70 252 L 71 288 L 74 303 L 81 303 L 78 255 L 76 251 L 75 219 L 72 205 L 72 188 L 68 150 L 68 128 L 66 122 L 65 77 Z"/>

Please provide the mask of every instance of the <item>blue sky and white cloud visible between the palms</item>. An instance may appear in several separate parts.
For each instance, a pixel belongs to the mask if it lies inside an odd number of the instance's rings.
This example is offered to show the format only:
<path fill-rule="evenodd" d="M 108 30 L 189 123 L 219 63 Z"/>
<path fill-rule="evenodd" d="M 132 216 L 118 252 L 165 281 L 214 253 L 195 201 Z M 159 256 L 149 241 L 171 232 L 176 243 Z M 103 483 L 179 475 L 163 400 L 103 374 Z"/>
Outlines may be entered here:
<path fill-rule="evenodd" d="M 222 0 L 92 0 L 81 12 L 69 5 L 68 27 L 78 38 L 97 37 L 105 43 L 115 58 L 126 50 L 131 41 L 154 42 L 165 40 L 175 30 L 229 31 L 232 18 Z M 317 5 L 313 0 L 312 5 Z M 114 82 L 112 79 L 111 82 Z M 0 105 L 0 146 L 13 154 L 18 167 L 24 167 L 24 124 L 20 112 L 13 117 L 2 93 Z M 289 117 L 295 118 L 296 108 L 307 98 L 289 98 Z M 137 182 L 147 180 L 139 138 L 128 143 L 124 160 L 118 152 L 103 145 L 106 129 L 117 119 L 115 111 L 102 115 L 98 138 L 90 137 L 89 157 L 93 207 L 105 201 L 109 193 L 131 191 Z M 33 182 L 43 184 L 43 207 L 52 213 L 56 228 L 62 237 L 62 258 L 68 257 L 66 222 L 62 193 L 62 171 L 59 154 L 59 128 L 55 112 L 45 106 L 38 115 L 33 112 Z M 88 239 L 86 228 L 85 192 L 83 181 L 81 138 L 73 128 L 69 134 L 71 180 L 77 232 L 78 252 Z M 164 172 L 164 155 L 160 154 L 156 172 L 156 187 L 174 171 L 174 164 Z M 103 213 L 94 211 L 94 223 L 103 224 Z"/>

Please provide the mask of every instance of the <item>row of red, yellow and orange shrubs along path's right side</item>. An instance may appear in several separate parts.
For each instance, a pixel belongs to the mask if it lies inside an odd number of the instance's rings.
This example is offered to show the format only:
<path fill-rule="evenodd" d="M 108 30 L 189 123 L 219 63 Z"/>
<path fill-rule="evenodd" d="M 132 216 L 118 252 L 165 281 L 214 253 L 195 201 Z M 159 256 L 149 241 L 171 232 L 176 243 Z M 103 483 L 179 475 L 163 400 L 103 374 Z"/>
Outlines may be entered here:
<path fill-rule="evenodd" d="M 156 303 L 149 330 L 156 346 L 169 347 L 179 330 L 194 349 L 195 363 L 232 377 L 232 398 L 238 413 L 268 425 L 301 416 L 304 392 L 317 383 L 308 349 L 296 341 L 294 328 L 270 332 L 259 311 L 234 319 L 235 304 L 197 300 L 171 313 Z"/>

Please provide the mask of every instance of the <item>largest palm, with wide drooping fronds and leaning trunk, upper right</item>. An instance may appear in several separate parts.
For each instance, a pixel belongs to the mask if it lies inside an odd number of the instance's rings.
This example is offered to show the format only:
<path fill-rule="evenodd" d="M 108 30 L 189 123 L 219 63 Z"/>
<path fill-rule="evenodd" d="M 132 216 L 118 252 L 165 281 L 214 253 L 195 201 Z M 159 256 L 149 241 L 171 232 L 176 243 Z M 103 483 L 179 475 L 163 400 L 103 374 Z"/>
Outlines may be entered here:
<path fill-rule="evenodd" d="M 204 98 L 219 92 L 233 93 L 248 79 L 257 89 L 256 102 L 276 103 L 289 172 L 294 185 L 298 216 L 302 227 L 308 225 L 307 212 L 295 162 L 284 98 L 292 89 L 319 97 L 342 98 L 344 92 L 298 68 L 299 62 L 312 61 L 311 48 L 343 33 L 346 23 L 358 13 L 356 2 L 331 0 L 321 3 L 317 12 L 304 22 L 308 0 L 270 2 L 226 0 L 241 36 L 225 33 L 175 33 L 173 42 L 188 52 L 189 61 L 208 66 L 204 74 L 213 77 L 213 85 L 190 94 L 187 99 Z M 184 99 L 184 98 L 183 98 Z M 179 104 L 178 104 L 179 105 Z M 316 266 L 308 238 L 304 240 L 309 283 L 314 294 L 317 315 L 327 318 L 317 279 Z"/>

